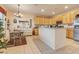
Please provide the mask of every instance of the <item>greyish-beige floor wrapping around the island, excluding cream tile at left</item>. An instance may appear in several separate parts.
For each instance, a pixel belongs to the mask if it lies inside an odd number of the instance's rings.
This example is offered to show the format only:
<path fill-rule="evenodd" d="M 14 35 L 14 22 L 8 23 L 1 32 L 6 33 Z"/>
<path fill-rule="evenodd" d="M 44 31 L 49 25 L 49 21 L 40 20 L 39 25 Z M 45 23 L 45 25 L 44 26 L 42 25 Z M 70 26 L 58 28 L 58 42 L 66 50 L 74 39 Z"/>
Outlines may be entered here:
<path fill-rule="evenodd" d="M 34 38 L 34 43 L 37 45 L 41 53 L 44 54 L 77 54 L 79 53 L 79 42 L 73 39 L 67 39 L 66 46 L 58 50 L 53 50 L 46 44 L 44 44 L 40 39 Z M 40 44 L 40 45 L 39 45 Z"/>

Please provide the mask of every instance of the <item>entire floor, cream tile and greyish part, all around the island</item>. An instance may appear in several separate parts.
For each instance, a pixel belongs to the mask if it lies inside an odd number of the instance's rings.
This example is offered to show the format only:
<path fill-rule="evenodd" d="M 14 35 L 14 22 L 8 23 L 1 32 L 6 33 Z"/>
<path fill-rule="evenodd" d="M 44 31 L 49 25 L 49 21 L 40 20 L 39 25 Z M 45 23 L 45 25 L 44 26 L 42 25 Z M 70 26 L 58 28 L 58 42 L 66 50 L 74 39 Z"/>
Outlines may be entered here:
<path fill-rule="evenodd" d="M 44 44 L 38 36 L 26 37 L 27 45 L 7 48 L 4 54 L 77 54 L 79 53 L 79 42 L 67 39 L 66 46 L 53 50 Z"/>

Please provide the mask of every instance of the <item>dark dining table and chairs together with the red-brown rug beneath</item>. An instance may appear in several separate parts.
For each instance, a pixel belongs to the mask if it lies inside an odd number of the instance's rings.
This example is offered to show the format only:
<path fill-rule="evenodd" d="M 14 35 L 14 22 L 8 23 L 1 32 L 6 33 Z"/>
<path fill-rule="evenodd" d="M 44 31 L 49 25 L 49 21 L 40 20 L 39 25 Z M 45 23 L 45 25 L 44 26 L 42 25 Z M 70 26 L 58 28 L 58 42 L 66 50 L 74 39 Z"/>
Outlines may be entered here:
<path fill-rule="evenodd" d="M 26 36 L 23 34 L 23 32 L 14 31 L 10 33 L 10 40 L 7 43 L 7 47 L 20 46 L 24 44 L 27 44 L 27 42 Z"/>

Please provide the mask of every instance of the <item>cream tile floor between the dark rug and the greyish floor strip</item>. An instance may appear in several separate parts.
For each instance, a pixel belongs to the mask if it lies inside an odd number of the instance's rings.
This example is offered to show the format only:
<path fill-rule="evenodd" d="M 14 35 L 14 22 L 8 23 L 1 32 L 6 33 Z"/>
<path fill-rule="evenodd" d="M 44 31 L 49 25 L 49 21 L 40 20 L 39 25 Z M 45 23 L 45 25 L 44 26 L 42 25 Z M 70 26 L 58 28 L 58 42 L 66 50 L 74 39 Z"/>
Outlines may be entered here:
<path fill-rule="evenodd" d="M 39 54 L 40 51 L 37 49 L 36 45 L 32 41 L 33 37 L 27 37 L 26 40 L 27 45 L 7 48 L 5 54 Z"/>

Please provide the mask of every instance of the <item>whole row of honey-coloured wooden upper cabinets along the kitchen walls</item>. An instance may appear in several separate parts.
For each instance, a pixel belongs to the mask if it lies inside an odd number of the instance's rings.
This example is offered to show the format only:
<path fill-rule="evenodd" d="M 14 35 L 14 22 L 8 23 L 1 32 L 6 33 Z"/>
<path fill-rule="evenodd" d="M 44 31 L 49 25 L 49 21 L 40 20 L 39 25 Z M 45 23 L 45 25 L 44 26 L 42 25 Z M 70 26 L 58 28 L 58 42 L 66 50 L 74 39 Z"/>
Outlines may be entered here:
<path fill-rule="evenodd" d="M 60 15 L 56 15 L 52 18 L 46 18 L 46 17 L 35 17 L 35 24 L 56 24 L 57 21 L 62 21 L 63 24 L 72 24 L 75 19 L 76 13 L 79 14 L 78 10 L 70 11 L 67 13 L 63 13 Z"/>

